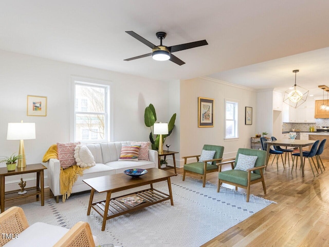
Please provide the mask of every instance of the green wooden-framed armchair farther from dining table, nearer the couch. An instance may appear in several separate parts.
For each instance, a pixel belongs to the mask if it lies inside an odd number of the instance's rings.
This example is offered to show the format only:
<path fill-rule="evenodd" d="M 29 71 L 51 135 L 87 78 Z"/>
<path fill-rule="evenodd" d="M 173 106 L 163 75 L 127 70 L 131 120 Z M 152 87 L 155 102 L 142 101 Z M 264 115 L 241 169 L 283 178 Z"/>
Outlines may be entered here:
<path fill-rule="evenodd" d="M 216 151 L 214 157 L 211 160 L 199 162 L 200 155 L 185 156 L 184 158 L 184 171 L 183 171 L 183 181 L 185 180 L 185 174 L 192 173 L 201 175 L 203 180 L 203 187 L 206 186 L 206 174 L 209 172 L 218 171 L 218 164 L 222 161 L 224 147 L 215 145 L 204 145 L 203 150 Z M 196 162 L 186 164 L 187 158 L 195 157 Z M 207 162 L 212 162 L 208 164 Z"/>

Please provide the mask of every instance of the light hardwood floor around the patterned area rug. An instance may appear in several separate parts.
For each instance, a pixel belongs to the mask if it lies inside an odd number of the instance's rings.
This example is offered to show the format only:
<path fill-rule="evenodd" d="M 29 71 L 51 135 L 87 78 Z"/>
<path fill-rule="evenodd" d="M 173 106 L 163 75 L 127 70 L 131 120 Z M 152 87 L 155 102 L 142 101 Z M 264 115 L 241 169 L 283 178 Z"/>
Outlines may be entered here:
<path fill-rule="evenodd" d="M 269 205 L 202 247 L 329 246 L 329 160 L 323 160 L 323 163 L 326 170 L 315 178 L 308 161 L 305 162 L 304 178 L 299 167 L 291 173 L 291 164 L 290 169 L 288 166 L 283 169 L 282 162 L 279 162 L 277 171 L 276 164 L 271 166 L 269 163 L 264 173 L 267 194 L 264 196 L 261 183 L 251 186 L 251 193 L 277 204 Z M 182 168 L 178 168 L 177 172 L 182 174 Z M 207 181 L 216 184 L 217 173 L 207 174 Z M 223 186 L 233 188 L 226 184 Z M 48 198 L 51 198 L 50 191 L 45 188 L 45 199 Z M 7 201 L 5 206 L 33 201 L 34 197 L 17 199 Z"/>

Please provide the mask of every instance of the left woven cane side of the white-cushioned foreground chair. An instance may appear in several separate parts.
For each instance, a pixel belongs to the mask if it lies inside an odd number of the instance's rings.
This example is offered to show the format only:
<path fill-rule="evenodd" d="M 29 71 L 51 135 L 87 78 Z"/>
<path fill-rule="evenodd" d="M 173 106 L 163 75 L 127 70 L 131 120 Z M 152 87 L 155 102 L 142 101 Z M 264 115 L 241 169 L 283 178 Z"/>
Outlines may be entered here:
<path fill-rule="evenodd" d="M 29 223 L 21 207 L 14 206 L 0 214 L 0 233 L 15 235 L 23 232 L 27 227 Z M 10 240 L 10 238 L 0 238 L 0 246 Z"/>

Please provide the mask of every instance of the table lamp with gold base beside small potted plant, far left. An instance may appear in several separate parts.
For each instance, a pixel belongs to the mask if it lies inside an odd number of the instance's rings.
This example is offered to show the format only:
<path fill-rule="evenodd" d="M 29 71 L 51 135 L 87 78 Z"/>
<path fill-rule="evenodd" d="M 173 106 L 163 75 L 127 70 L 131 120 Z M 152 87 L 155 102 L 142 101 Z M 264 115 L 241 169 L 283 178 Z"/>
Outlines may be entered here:
<path fill-rule="evenodd" d="M 34 122 L 9 122 L 7 140 L 20 140 L 19 155 L 22 156 L 17 162 L 17 168 L 26 167 L 24 140 L 35 139 Z"/>

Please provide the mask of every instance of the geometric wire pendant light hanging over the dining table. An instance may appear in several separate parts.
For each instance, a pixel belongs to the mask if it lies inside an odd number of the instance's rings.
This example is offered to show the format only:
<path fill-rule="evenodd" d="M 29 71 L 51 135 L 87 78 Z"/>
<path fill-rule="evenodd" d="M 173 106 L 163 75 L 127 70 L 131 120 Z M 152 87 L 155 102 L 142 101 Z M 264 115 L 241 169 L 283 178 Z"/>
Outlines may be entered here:
<path fill-rule="evenodd" d="M 293 70 L 293 73 L 295 73 L 295 85 L 293 86 L 293 90 L 288 89 L 286 92 L 284 92 L 283 98 L 283 102 L 294 108 L 297 108 L 299 105 L 304 103 L 308 96 L 308 90 L 296 84 L 297 72 L 299 72 L 299 69 Z"/>

